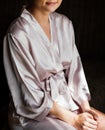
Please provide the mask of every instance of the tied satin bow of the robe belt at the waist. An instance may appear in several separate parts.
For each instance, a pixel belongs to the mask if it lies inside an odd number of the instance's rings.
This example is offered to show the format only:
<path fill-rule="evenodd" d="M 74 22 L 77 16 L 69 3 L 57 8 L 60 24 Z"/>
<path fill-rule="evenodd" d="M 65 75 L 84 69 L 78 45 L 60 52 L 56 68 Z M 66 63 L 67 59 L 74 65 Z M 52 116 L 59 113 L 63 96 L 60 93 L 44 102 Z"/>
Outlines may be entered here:
<path fill-rule="evenodd" d="M 66 90 L 67 83 L 63 72 L 51 75 L 48 79 L 46 79 L 46 91 L 51 94 L 52 99 L 56 99 L 59 94 L 65 94 Z"/>

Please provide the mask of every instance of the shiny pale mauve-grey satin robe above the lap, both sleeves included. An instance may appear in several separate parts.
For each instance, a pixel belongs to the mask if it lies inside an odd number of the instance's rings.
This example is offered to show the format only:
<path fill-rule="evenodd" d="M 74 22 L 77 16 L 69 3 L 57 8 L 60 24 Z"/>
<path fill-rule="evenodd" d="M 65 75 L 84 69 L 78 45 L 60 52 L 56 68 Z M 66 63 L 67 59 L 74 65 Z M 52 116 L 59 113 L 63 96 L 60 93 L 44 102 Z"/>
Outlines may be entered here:
<path fill-rule="evenodd" d="M 9 117 L 24 128 L 31 120 L 35 124 L 46 119 L 53 100 L 75 111 L 77 103 L 90 99 L 72 22 L 58 13 L 52 13 L 49 21 L 51 41 L 24 9 L 4 38 L 4 67 L 12 97 Z"/>

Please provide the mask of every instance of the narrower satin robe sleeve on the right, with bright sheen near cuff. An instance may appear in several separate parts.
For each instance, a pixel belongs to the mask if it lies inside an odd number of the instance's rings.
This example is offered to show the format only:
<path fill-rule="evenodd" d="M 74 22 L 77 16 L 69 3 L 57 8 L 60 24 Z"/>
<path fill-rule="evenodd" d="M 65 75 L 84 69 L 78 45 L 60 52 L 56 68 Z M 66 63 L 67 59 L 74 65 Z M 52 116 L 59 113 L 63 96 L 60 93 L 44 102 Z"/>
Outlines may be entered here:
<path fill-rule="evenodd" d="M 72 22 L 70 29 L 72 35 L 71 36 L 72 60 L 70 64 L 70 70 L 68 73 L 68 82 L 73 98 L 75 99 L 76 102 L 78 102 L 81 105 L 83 101 L 90 100 L 91 96 L 86 81 L 86 77 L 84 74 L 81 58 L 75 44 L 75 36 Z"/>

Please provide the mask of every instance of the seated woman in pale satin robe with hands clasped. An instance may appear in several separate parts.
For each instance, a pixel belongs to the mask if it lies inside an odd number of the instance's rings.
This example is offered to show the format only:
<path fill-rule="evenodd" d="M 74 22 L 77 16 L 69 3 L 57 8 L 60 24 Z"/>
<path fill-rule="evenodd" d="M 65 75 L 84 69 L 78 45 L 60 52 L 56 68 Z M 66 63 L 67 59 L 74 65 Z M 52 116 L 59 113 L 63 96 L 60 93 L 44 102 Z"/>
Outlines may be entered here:
<path fill-rule="evenodd" d="M 96 130 L 97 112 L 62 0 L 27 0 L 4 38 L 11 130 Z"/>

